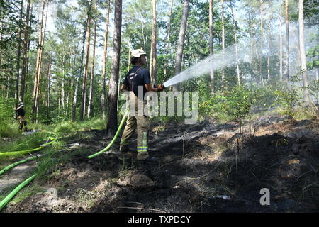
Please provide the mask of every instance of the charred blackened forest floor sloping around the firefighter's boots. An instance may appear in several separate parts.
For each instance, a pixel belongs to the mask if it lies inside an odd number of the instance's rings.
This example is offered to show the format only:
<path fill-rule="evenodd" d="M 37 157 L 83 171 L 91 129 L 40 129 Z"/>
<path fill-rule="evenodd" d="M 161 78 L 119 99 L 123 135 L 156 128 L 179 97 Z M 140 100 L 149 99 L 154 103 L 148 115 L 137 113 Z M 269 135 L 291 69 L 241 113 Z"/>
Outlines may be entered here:
<path fill-rule="evenodd" d="M 118 142 L 86 158 L 111 141 L 103 130 L 64 138 L 80 144 L 72 160 L 33 182 L 45 192 L 3 212 L 318 212 L 318 120 L 262 116 L 246 125 L 242 133 L 211 120 L 153 126 L 150 155 L 159 162 L 119 159 Z M 260 204 L 263 188 L 270 205 Z"/>

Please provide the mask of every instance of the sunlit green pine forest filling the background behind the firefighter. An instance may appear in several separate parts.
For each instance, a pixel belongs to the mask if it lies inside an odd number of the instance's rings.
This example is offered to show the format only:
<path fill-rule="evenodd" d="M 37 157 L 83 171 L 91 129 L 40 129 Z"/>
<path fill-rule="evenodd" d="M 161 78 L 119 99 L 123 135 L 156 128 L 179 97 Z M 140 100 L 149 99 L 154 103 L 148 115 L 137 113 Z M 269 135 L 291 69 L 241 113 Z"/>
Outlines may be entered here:
<path fill-rule="evenodd" d="M 291 87 L 296 75 L 307 87 L 318 81 L 318 11 L 315 0 L 0 0 L 1 121 L 19 101 L 36 122 L 105 118 L 138 48 L 156 84 L 230 46 L 245 55 L 179 84 L 202 102 L 238 84 Z"/>

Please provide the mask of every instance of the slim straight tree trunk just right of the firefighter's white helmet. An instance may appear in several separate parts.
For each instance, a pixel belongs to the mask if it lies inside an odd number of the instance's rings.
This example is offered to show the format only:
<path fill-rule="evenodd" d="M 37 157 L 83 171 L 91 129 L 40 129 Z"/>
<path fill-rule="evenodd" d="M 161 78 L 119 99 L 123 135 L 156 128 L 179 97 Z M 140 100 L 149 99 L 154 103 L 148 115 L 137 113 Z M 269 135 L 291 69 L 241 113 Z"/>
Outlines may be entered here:
<path fill-rule="evenodd" d="M 156 84 L 156 0 L 152 0 L 153 9 L 153 26 L 152 26 L 152 43 L 150 55 L 150 79 L 153 84 Z"/>

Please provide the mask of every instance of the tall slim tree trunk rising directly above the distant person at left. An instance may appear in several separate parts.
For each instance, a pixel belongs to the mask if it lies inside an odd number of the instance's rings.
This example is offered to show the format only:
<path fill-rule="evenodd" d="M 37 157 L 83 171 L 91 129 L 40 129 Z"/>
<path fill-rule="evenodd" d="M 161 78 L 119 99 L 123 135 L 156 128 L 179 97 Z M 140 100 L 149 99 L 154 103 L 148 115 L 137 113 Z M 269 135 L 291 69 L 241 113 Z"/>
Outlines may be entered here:
<path fill-rule="evenodd" d="M 21 73 L 21 90 L 20 90 L 20 97 L 19 97 L 20 101 L 23 101 L 24 99 L 24 92 L 26 88 L 30 3 L 31 3 L 31 0 L 28 0 L 27 8 L 26 8 L 26 23 L 24 28 L 24 39 L 23 39 L 23 65 L 22 65 L 22 73 Z"/>

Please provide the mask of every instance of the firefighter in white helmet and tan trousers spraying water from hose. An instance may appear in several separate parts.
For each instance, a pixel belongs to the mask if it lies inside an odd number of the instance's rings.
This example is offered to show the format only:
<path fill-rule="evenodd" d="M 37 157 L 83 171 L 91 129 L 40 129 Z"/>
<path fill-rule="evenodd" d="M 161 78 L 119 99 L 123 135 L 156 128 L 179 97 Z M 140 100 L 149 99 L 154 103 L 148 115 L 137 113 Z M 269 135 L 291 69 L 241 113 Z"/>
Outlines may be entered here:
<path fill-rule="evenodd" d="M 128 154 L 128 143 L 137 129 L 138 132 L 138 145 L 137 145 L 137 159 L 138 160 L 150 160 L 157 161 L 155 157 L 150 157 L 148 153 L 148 145 L 147 145 L 147 137 L 148 137 L 148 128 L 150 126 L 150 120 L 147 116 L 139 116 L 138 115 L 138 101 L 142 101 L 143 109 L 147 104 L 146 100 L 138 100 L 138 86 L 142 86 L 143 94 L 142 97 L 144 99 L 144 95 L 146 92 L 161 92 L 164 90 L 164 86 L 161 84 L 159 87 L 152 87 L 150 81 L 150 72 L 147 69 L 143 68 L 143 66 L 147 65 L 147 57 L 144 50 L 137 49 L 133 50 L 131 63 L 133 67 L 130 69 L 128 74 L 126 74 L 125 79 L 123 81 L 121 92 L 129 91 L 129 99 L 130 104 L 133 103 L 135 105 L 135 116 L 128 116 L 128 120 L 126 122 L 125 129 L 123 131 L 123 135 L 120 143 L 120 153 Z M 131 106 L 131 105 L 130 105 Z"/>

